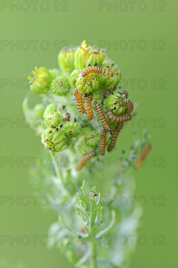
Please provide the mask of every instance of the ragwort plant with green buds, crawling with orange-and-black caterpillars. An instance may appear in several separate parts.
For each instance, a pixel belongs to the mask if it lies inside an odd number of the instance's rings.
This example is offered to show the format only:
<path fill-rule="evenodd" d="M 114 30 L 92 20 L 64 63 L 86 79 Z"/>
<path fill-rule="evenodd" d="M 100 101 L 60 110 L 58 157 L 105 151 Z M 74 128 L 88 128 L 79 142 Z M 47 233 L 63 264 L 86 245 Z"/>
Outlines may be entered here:
<path fill-rule="evenodd" d="M 36 118 L 34 129 L 46 149 L 43 156 L 51 157 L 47 168 L 38 165 L 32 171 L 36 190 L 50 196 L 51 207 L 59 214 L 49 229 L 55 237 L 50 243 L 76 267 L 127 267 L 134 245 L 119 238 L 137 233 L 141 210 L 120 206 L 115 198 L 133 195 L 130 171 L 141 166 L 149 151 L 139 158 L 150 146 L 148 134 L 144 131 L 135 140 L 126 164 L 113 167 L 110 174 L 103 155 L 117 152 L 119 133 L 126 131 L 136 106 L 119 87 L 119 67 L 105 50 L 88 46 L 85 40 L 60 51 L 58 62 L 59 69 L 34 68 L 28 77 L 30 90 L 41 96 L 41 102 L 29 108 L 29 94 L 23 102 L 26 117 Z M 104 180 L 101 193 L 93 187 L 94 178 Z M 109 241 L 111 237 L 117 243 Z"/>

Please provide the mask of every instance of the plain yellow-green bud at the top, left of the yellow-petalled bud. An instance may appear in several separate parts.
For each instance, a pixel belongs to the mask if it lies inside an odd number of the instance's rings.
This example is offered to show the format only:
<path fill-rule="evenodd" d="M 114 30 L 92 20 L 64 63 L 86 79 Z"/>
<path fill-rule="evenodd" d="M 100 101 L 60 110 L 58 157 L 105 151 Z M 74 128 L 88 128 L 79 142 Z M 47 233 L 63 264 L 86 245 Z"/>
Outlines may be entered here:
<path fill-rule="evenodd" d="M 59 67 L 63 72 L 71 73 L 74 68 L 75 49 L 61 50 L 58 56 Z"/>

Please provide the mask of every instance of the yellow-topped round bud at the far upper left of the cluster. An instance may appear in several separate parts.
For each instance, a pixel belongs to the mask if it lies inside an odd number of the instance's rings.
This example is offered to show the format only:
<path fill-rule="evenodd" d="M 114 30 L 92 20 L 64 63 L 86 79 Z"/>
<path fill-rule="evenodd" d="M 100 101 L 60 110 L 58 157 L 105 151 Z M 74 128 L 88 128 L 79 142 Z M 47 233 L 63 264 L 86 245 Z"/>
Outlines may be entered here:
<path fill-rule="evenodd" d="M 52 76 L 46 67 L 35 67 L 34 77 L 28 77 L 30 90 L 37 94 L 46 94 L 50 89 Z"/>

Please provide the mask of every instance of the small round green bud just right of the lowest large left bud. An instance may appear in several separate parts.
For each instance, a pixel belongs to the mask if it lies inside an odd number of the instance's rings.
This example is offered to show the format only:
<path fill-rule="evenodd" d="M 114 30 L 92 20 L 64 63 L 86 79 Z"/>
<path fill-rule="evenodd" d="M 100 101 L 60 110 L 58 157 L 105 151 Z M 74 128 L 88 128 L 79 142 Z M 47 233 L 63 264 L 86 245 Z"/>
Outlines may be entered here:
<path fill-rule="evenodd" d="M 74 121 L 67 121 L 63 127 L 62 132 L 67 136 L 77 137 L 81 131 L 81 126 Z"/>

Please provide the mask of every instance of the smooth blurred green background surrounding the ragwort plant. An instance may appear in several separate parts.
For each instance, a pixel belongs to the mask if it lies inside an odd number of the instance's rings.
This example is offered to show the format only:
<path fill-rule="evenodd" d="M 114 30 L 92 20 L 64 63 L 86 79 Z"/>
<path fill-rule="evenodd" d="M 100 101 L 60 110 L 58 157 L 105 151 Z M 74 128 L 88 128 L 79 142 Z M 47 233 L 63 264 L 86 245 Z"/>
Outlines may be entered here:
<path fill-rule="evenodd" d="M 33 10 L 32 1 L 19 1 L 20 10 L 12 6 L 12 3 L 17 2 L 1 1 L 1 39 L 6 40 L 1 43 L 1 117 L 8 118 L 9 121 L 24 118 L 21 104 L 28 89 L 11 83 L 24 79 L 34 65 L 57 67 L 59 49 L 65 43 L 79 45 L 86 39 L 88 44 L 99 45 L 99 40 L 105 40 L 102 47 L 107 49 L 108 56 L 119 64 L 122 78 L 128 82 L 126 88 L 129 95 L 139 104 L 138 118 L 146 118 L 146 128 L 152 135 L 153 149 L 148 156 L 148 165 L 139 172 L 133 172 L 137 184 L 136 196 L 146 196 L 148 200 L 143 208 L 138 230 L 139 235 L 147 236 L 148 243 L 144 246 L 137 244 L 131 267 L 177 267 L 178 2 L 134 1 L 136 3 L 132 9 L 133 1 L 99 3 L 95 0 L 50 0 L 37 3 L 36 11 Z M 24 3 L 21 5 L 22 2 Z M 43 10 L 40 9 L 41 2 Z M 109 3 L 115 2 L 117 6 L 109 9 Z M 99 5 L 103 6 L 100 11 Z M 24 11 L 28 8 L 29 10 Z M 44 11 L 46 8 L 48 10 Z M 146 9 L 141 11 L 144 8 Z M 10 43 L 17 43 L 17 40 L 22 47 L 11 47 Z M 21 43 L 23 40 L 28 40 L 29 49 L 24 49 L 27 43 Z M 31 40 L 39 40 L 36 50 L 34 41 Z M 40 47 L 42 40 L 48 41 L 48 49 L 44 49 L 45 42 Z M 134 40 L 134 47 L 131 47 L 131 40 Z M 109 46 L 114 42 L 117 47 Z M 147 48 L 140 49 L 145 43 Z M 5 80 L 2 79 L 8 79 L 9 84 L 4 85 Z M 136 79 L 133 88 L 128 79 Z M 146 88 L 141 88 L 144 86 L 140 79 L 146 80 Z M 39 97 L 33 97 L 34 103 L 37 102 Z M 161 123 L 163 124 L 160 125 Z M 119 148 L 119 152 L 122 149 L 127 150 L 133 142 L 133 129 L 131 126 L 129 128 L 130 131 L 125 131 L 120 136 L 122 148 Z M 1 157 L 30 158 L 39 156 L 43 150 L 40 138 L 35 136 L 31 128 L 7 123 L 3 128 L 1 126 L 0 131 Z M 138 120 L 134 123 L 134 131 L 140 135 L 142 133 Z M 116 151 L 111 157 L 115 154 Z M 151 161 L 154 157 L 156 167 Z M 165 159 L 164 167 L 159 167 L 162 159 L 158 159 L 159 157 Z M 29 170 L 30 167 L 17 167 L 16 164 L 11 167 L 10 162 L 4 164 L 1 168 L 1 195 L 33 195 Z M 108 169 L 107 179 L 110 176 L 112 168 Z M 90 181 L 92 183 L 92 180 Z M 97 182 L 96 179 L 93 180 L 93 186 L 95 184 L 98 190 L 99 187 L 101 190 L 104 187 L 103 183 Z M 156 206 L 153 206 L 153 196 L 156 196 Z M 165 197 L 165 206 L 158 206 L 161 201 L 158 200 L 159 196 Z M 10 206 L 7 202 L 1 206 L 1 235 L 41 236 L 48 233 L 48 227 L 56 220 L 57 214 L 54 211 L 43 210 L 38 203 L 36 207 L 33 204 L 25 207 Z M 153 245 L 153 235 L 156 235 L 157 239 L 159 235 L 164 235 L 165 245 L 158 245 L 160 237 L 156 240 L 156 245 Z M 4 242 L 1 246 L 1 260 L 1 267 L 71 267 L 58 249 L 48 249 L 40 243 L 36 246 L 31 243 L 25 246 Z"/>

